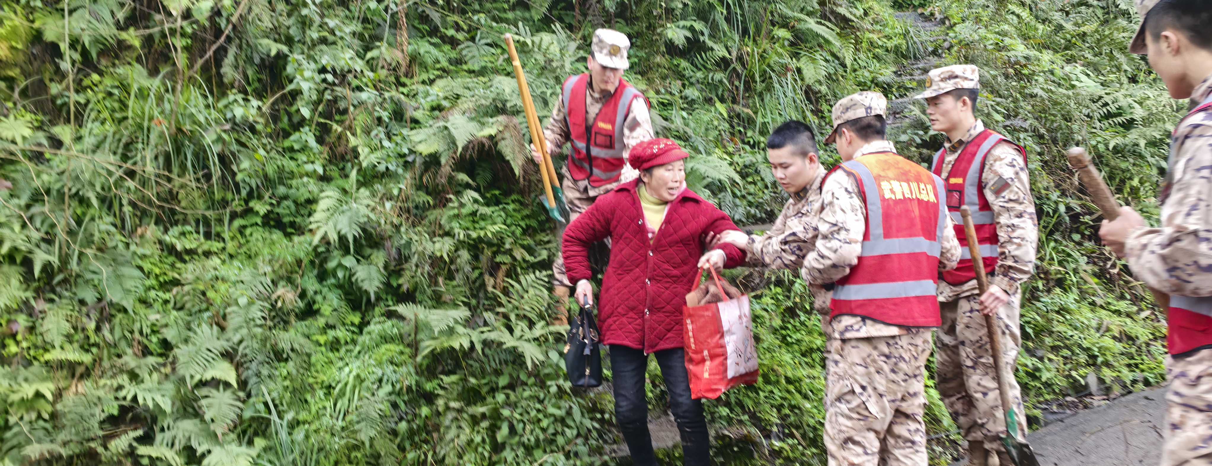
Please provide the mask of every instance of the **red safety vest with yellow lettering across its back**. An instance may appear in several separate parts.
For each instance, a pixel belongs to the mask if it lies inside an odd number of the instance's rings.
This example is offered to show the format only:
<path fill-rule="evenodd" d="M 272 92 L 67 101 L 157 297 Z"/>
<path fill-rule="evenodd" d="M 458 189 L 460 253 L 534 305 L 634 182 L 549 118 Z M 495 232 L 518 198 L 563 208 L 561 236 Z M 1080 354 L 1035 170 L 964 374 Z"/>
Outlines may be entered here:
<path fill-rule="evenodd" d="M 891 152 L 862 155 L 836 171 L 858 182 L 867 208 L 863 252 L 837 280 L 830 316 L 856 314 L 904 326 L 939 326 L 938 255 L 947 209 L 943 181 Z"/>

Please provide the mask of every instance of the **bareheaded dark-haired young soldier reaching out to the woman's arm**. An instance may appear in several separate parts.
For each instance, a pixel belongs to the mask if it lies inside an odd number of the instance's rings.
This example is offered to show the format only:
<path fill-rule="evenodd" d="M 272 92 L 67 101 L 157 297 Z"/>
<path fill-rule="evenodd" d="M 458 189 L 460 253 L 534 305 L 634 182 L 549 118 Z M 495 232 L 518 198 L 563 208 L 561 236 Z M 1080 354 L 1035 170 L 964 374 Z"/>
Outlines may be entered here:
<path fill-rule="evenodd" d="M 749 266 L 799 271 L 804 256 L 816 248 L 821 180 L 825 175 L 812 129 L 795 120 L 779 125 L 766 140 L 766 157 L 774 180 L 791 198 L 766 233 L 749 235 L 728 231 L 719 240 L 748 252 Z M 709 235 L 708 241 L 714 246 L 716 239 Z M 818 285 L 808 285 L 808 289 L 814 297 L 813 307 L 828 312 L 829 291 Z"/>

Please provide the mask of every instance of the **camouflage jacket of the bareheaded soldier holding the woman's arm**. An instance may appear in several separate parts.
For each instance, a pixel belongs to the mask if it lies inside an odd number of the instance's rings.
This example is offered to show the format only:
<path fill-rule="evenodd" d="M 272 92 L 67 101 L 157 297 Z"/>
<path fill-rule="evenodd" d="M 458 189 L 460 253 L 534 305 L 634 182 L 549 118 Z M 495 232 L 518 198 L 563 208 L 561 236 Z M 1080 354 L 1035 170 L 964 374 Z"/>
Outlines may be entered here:
<path fill-rule="evenodd" d="M 745 256 L 750 266 L 768 267 L 784 271 L 799 271 L 804 256 L 817 245 L 817 220 L 821 216 L 821 180 L 825 170 L 817 170 L 804 191 L 791 194 L 778 214 L 774 225 L 764 234 L 749 235 Z M 829 297 L 833 295 L 821 285 L 808 284 L 812 291 L 813 308 L 829 309 Z"/>

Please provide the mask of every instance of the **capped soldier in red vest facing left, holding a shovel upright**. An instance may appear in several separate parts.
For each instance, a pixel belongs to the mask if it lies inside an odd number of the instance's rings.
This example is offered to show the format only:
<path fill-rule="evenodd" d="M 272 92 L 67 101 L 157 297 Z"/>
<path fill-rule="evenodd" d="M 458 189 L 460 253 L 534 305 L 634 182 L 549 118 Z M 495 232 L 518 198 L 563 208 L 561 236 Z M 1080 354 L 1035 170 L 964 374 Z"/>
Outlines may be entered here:
<path fill-rule="evenodd" d="M 979 295 L 976 271 L 962 229 L 965 248 L 955 271 L 943 273 L 938 284 L 943 328 L 938 333 L 938 392 L 968 441 L 970 465 L 1010 466 L 999 437 L 1006 433 L 997 371 L 994 369 L 984 314 L 996 314 L 1002 357 L 1010 365 L 1010 398 L 1023 413 L 1018 382 L 1013 379 L 1022 333 L 1019 286 L 1031 278 L 1039 237 L 1035 200 L 1028 180 L 1025 152 L 1001 135 L 985 129 L 974 115 L 981 81 L 976 66 L 956 64 L 932 69 L 926 91 L 931 129 L 947 135 L 932 169 L 948 188 L 953 220 L 962 223 L 959 209 L 968 204 L 984 263 L 989 290 Z M 967 192 L 971 191 L 971 192 Z M 957 225 L 962 228 L 962 225 Z M 1018 419 L 1027 433 L 1027 420 Z"/>

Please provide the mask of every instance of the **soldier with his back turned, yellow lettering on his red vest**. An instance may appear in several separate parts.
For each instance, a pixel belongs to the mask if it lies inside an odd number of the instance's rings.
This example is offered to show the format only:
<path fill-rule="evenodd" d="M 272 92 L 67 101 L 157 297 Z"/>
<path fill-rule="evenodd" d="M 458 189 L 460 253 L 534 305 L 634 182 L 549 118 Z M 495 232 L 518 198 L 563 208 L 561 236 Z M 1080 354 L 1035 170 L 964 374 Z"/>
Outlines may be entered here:
<path fill-rule="evenodd" d="M 892 143 L 885 140 L 886 109 L 887 100 L 879 92 L 859 92 L 834 106 L 834 132 L 825 142 L 836 141 L 837 153 L 845 161 L 825 177 L 816 249 L 805 256 L 800 269 L 808 283 L 834 288 L 831 312 L 825 323 L 829 340 L 824 441 L 829 466 L 925 466 L 928 462 L 922 415 L 926 409 L 925 371 L 931 350 L 930 336 L 939 323 L 934 282 L 937 271 L 955 267 L 960 245 L 955 239 L 954 222 L 942 211 L 938 199 L 942 181 L 896 155 Z M 890 165 L 886 166 L 891 169 L 870 170 L 868 175 L 852 170 L 856 164 L 879 166 L 871 160 L 887 161 Z M 911 178 L 907 180 L 908 183 L 864 181 L 859 184 L 857 180 L 868 180 L 865 176 L 871 174 L 876 176 L 874 180 L 881 180 L 886 174 Z M 864 191 L 863 187 L 870 189 Z M 881 192 L 882 199 L 879 195 Z M 873 197 L 876 199 L 870 199 Z M 919 210 L 925 212 L 919 215 L 938 209 L 933 214 L 937 215 L 937 232 L 920 233 L 928 233 L 933 240 L 891 235 L 926 241 L 921 244 L 925 249 L 897 246 L 894 251 L 880 252 L 874 240 L 876 233 L 881 239 L 879 243 L 887 243 L 882 240 L 884 234 L 898 233 L 890 225 L 901 226 L 899 232 L 903 233 L 904 222 L 922 223 L 913 218 L 911 210 L 885 210 L 886 203 L 902 201 L 919 203 L 919 209 L 928 206 Z M 871 214 L 871 225 L 880 227 L 869 228 L 867 216 L 875 205 L 891 214 Z M 876 217 L 879 222 L 874 221 Z M 933 252 L 931 248 L 934 248 Z M 937 267 L 899 267 L 892 277 L 881 275 L 879 271 L 873 275 L 870 263 L 879 262 L 877 252 L 886 254 L 884 257 L 907 257 L 899 262 L 902 265 L 937 263 Z M 852 290 L 856 296 L 851 296 Z M 863 305 L 869 307 L 858 312 Z M 874 317 L 880 309 L 886 314 Z M 921 322 L 905 322 L 903 317 L 920 318 Z"/>

